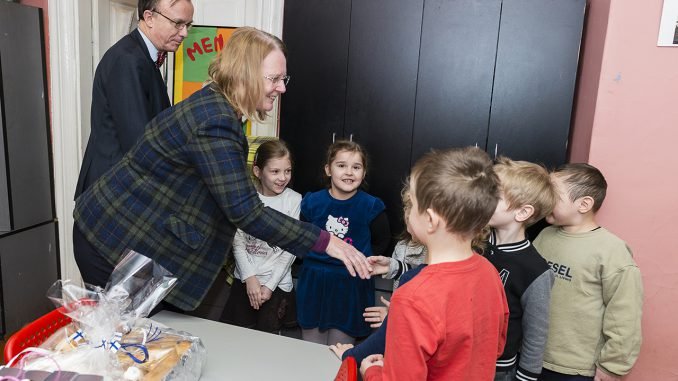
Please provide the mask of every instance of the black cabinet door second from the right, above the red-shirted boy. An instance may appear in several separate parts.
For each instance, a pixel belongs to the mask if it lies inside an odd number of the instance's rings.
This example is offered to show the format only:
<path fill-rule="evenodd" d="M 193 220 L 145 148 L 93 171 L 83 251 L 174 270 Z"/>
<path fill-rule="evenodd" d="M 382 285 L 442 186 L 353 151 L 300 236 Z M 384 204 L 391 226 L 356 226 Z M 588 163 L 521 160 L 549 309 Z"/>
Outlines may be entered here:
<path fill-rule="evenodd" d="M 427 0 L 412 163 L 431 148 L 485 149 L 501 0 Z"/>

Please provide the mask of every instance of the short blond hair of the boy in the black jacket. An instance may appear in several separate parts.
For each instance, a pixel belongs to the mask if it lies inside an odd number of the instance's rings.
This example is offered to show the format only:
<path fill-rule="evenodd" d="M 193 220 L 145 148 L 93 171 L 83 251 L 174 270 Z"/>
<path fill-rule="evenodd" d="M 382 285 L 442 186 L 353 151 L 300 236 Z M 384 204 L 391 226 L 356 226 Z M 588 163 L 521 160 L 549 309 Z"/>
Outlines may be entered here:
<path fill-rule="evenodd" d="M 494 164 L 494 171 L 499 176 L 509 210 L 523 205 L 532 205 L 534 208 L 532 216 L 525 220 L 525 226 L 534 224 L 553 211 L 558 193 L 546 168 L 529 161 L 514 161 L 500 156 Z"/>

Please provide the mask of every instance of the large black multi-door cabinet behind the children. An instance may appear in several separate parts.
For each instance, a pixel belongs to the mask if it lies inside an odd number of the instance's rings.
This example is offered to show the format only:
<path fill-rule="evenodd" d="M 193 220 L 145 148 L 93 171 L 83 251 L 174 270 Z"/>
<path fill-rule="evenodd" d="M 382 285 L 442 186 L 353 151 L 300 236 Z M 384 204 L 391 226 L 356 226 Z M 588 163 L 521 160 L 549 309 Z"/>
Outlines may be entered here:
<path fill-rule="evenodd" d="M 333 139 L 370 155 L 368 191 L 402 229 L 399 191 L 432 148 L 565 162 L 586 0 L 287 0 L 292 82 L 280 137 L 293 187 L 323 186 Z"/>

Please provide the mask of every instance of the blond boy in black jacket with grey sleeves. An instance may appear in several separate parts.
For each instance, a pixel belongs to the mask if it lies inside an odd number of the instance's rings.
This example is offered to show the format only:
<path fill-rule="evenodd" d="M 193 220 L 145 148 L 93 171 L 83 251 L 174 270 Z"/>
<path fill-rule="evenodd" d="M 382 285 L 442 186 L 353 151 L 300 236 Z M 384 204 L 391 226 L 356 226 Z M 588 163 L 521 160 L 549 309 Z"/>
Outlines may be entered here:
<path fill-rule="evenodd" d="M 485 257 L 497 268 L 509 305 L 508 337 L 495 381 L 531 381 L 541 374 L 554 274 L 525 235 L 553 210 L 557 193 L 543 167 L 499 158 L 501 199 L 489 225 Z"/>

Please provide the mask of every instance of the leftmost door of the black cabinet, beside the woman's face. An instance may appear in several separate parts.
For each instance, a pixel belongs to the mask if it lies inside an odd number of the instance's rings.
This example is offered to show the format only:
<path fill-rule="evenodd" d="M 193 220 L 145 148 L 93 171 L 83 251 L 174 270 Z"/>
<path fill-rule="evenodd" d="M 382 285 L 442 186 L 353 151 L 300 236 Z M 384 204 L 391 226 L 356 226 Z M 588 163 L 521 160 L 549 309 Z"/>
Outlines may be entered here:
<path fill-rule="evenodd" d="M 292 150 L 292 188 L 302 195 L 323 186 L 325 151 L 343 133 L 350 12 L 350 0 L 285 1 L 292 78 L 281 98 L 280 138 Z"/>

